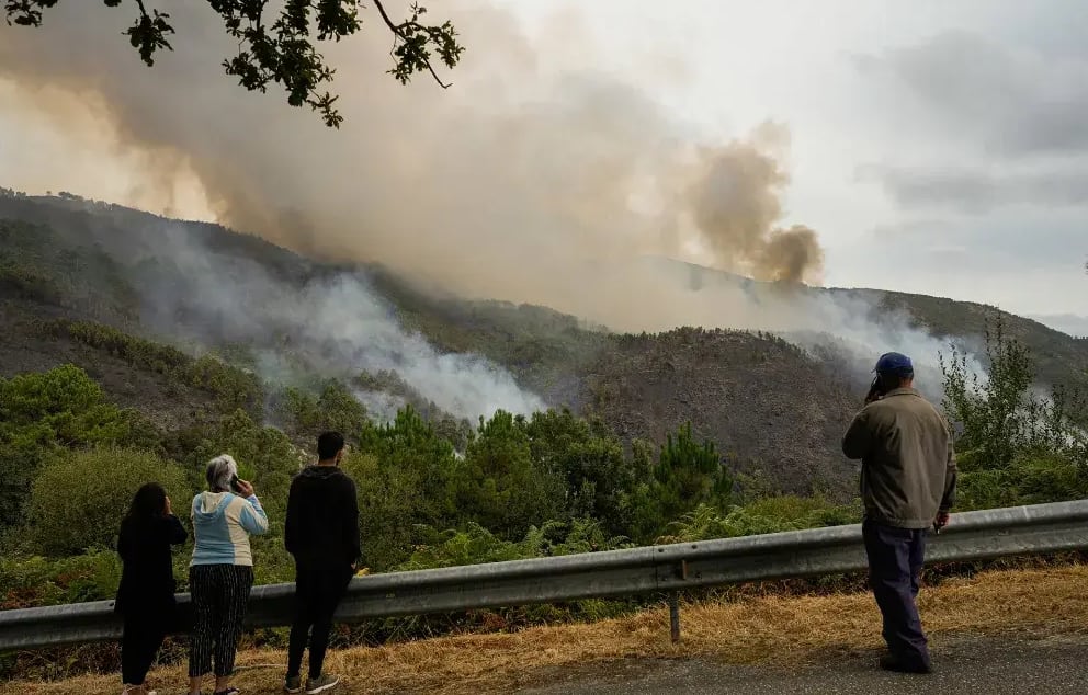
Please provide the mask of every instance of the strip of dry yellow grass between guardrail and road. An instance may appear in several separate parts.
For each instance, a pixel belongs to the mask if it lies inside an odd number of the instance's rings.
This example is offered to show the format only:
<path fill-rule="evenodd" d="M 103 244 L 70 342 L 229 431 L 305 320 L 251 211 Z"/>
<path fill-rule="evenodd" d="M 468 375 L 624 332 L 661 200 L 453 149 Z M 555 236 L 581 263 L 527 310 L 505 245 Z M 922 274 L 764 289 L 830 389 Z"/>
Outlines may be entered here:
<path fill-rule="evenodd" d="M 922 620 L 931 636 L 1080 631 L 1088 625 L 1088 567 L 1001 571 L 923 589 Z M 668 612 L 654 609 L 615 620 L 526 629 L 512 635 L 471 635 L 332 652 L 328 670 L 345 677 L 351 693 L 509 692 L 553 668 L 604 664 L 627 657 L 703 657 L 732 663 L 801 664 L 829 652 L 880 647 L 880 615 L 868 594 L 710 602 L 681 608 L 682 645 L 669 641 Z M 939 647 L 938 647 L 939 648 Z M 247 693 L 276 693 L 277 651 L 239 656 L 236 684 Z M 260 664 L 275 664 L 262 668 Z M 247 668 L 249 666 L 249 668 Z M 152 673 L 160 695 L 185 692 L 180 668 Z M 18 682 L 0 694 L 83 695 L 120 692 L 117 676 L 57 683 Z M 175 684 L 175 685 L 173 685 Z"/>

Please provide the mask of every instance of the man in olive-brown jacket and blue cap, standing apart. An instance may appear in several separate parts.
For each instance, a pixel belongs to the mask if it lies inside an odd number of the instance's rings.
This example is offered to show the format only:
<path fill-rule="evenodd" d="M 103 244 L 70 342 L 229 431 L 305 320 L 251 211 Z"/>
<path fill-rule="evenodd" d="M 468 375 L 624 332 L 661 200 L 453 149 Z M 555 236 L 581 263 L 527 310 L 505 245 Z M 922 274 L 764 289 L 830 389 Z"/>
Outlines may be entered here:
<path fill-rule="evenodd" d="M 866 405 L 842 437 L 842 453 L 862 462 L 862 534 L 888 648 L 881 666 L 929 673 L 915 599 L 929 527 L 939 531 L 948 524 L 955 502 L 952 433 L 915 390 L 914 366 L 906 355 L 882 355 L 874 372 Z"/>

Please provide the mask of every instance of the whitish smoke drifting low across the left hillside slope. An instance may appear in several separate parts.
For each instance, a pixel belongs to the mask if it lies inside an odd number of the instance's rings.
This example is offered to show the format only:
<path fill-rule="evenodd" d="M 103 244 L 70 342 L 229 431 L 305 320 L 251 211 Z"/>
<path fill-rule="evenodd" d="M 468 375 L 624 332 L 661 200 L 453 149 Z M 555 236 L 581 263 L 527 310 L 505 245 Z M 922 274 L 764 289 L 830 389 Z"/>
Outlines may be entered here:
<path fill-rule="evenodd" d="M 339 271 L 292 282 L 273 277 L 254 260 L 216 251 L 182 226 L 168 226 L 155 238 L 158 242 L 135 259 L 137 263 L 154 259 L 166 270 L 159 277 L 144 278 L 150 293 L 145 296 L 145 314 L 158 316 L 161 322 L 186 311 L 196 315 L 196 332 L 205 333 L 202 338 L 207 342 L 263 348 L 258 368 L 265 378 L 290 383 L 290 355 L 295 353 L 337 375 L 396 372 L 408 386 L 458 418 L 490 417 L 498 409 L 529 414 L 545 407 L 490 361 L 442 353 L 419 333 L 404 330 L 394 308 L 361 273 Z M 183 286 L 167 284 L 167 277 L 183 278 Z M 376 407 L 373 414 L 388 419 L 392 401 L 363 402 Z"/>

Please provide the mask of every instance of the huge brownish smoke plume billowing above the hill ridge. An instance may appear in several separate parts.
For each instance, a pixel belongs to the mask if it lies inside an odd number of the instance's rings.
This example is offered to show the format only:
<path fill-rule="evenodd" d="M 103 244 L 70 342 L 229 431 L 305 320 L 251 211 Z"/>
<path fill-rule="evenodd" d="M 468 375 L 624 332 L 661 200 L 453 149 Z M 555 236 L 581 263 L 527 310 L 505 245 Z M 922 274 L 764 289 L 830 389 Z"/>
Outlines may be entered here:
<path fill-rule="evenodd" d="M 333 132 L 280 93 L 223 77 L 234 47 L 217 18 L 177 4 L 175 52 L 154 69 L 118 36 L 128 18 L 100 3 L 59 3 L 39 30 L 0 27 L 5 115 L 47 119 L 67 138 L 70 161 L 55 172 L 68 190 L 102 197 L 93 173 L 70 172 L 93 172 L 78 163 L 88 157 L 123 160 L 138 172 L 138 201 L 120 202 L 184 212 L 178 192 L 195 187 L 238 230 L 325 260 L 378 261 L 468 297 L 617 330 L 816 330 L 876 354 L 902 348 L 871 307 L 728 277 L 696 289 L 689 266 L 660 261 L 795 284 L 819 281 L 823 252 L 815 231 L 783 224 L 783 126 L 700 132 L 649 96 L 651 76 L 623 83 L 581 54 L 577 73 L 546 69 L 582 31 L 576 15 L 562 35 L 531 37 L 484 0 L 443 3 L 468 46 L 450 90 L 384 75 L 388 36 L 371 24 L 327 47 L 347 117 Z M 909 334 L 936 360 L 936 341 Z"/>

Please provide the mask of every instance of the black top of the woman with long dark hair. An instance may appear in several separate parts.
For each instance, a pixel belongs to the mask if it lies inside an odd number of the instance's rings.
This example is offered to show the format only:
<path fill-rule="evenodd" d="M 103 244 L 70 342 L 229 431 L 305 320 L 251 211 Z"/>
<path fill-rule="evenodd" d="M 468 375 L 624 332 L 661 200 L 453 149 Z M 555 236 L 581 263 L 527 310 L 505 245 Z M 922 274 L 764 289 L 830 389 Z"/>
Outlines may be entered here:
<path fill-rule="evenodd" d="M 114 611 L 148 611 L 173 605 L 177 582 L 170 546 L 181 545 L 188 534 L 171 514 L 145 523 L 123 523 L 117 554 L 124 562 Z"/>

